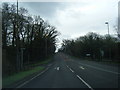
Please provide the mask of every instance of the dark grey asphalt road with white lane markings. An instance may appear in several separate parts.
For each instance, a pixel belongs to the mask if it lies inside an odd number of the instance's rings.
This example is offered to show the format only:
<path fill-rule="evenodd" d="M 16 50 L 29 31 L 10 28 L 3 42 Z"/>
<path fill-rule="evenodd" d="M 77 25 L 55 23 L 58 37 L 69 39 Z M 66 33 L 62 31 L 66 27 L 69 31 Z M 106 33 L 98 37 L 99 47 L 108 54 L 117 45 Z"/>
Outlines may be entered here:
<path fill-rule="evenodd" d="M 118 88 L 118 66 L 58 53 L 48 68 L 17 88 Z"/>

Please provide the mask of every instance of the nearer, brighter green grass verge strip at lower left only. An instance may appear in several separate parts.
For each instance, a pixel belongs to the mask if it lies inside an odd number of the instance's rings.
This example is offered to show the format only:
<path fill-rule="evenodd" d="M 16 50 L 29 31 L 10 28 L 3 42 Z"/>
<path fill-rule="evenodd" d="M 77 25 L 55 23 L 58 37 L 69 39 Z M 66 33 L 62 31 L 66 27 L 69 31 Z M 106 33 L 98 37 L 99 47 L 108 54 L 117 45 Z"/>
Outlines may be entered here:
<path fill-rule="evenodd" d="M 36 73 L 36 72 L 41 71 L 43 69 L 44 69 L 44 67 L 38 66 L 38 67 L 34 67 L 31 70 L 21 71 L 19 73 L 14 74 L 14 75 L 5 77 L 5 78 L 2 79 L 3 87 L 6 87 L 10 84 L 13 84 L 13 83 L 29 76 L 29 75 L 32 75 L 33 73 Z"/>

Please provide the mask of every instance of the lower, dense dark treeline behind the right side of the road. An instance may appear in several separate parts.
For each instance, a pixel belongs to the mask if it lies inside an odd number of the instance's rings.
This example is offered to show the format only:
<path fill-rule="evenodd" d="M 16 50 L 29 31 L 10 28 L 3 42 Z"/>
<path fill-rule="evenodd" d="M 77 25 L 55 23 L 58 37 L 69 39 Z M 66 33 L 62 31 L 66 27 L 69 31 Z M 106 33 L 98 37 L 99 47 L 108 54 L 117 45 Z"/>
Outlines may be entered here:
<path fill-rule="evenodd" d="M 76 40 L 63 40 L 59 51 L 79 58 L 119 61 L 120 41 L 117 37 L 90 32 Z"/>

